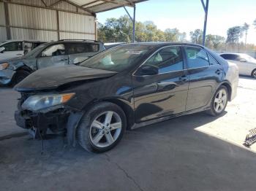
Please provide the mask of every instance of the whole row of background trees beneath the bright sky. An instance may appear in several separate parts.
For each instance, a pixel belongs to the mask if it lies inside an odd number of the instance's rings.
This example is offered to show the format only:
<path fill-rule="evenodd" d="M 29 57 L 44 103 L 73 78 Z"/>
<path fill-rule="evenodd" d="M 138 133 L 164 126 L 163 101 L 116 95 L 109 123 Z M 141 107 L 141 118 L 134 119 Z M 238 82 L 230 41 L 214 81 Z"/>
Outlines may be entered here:
<path fill-rule="evenodd" d="M 253 23 L 256 28 L 256 19 Z M 227 30 L 227 39 L 224 36 L 208 34 L 206 35 L 206 47 L 213 50 L 233 50 L 236 45 L 239 50 L 254 49 L 253 44 L 239 42 L 239 39 L 249 30 L 249 24 L 243 26 L 233 26 Z M 102 42 L 132 42 L 132 21 L 128 16 L 119 18 L 108 18 L 104 25 L 98 24 L 98 39 Z M 203 31 L 195 29 L 190 31 L 190 42 L 202 44 Z M 152 21 L 135 23 L 135 41 L 136 42 L 187 42 L 187 34 L 182 33 L 178 28 L 167 28 L 160 30 Z M 245 38 L 246 39 L 246 38 Z"/>

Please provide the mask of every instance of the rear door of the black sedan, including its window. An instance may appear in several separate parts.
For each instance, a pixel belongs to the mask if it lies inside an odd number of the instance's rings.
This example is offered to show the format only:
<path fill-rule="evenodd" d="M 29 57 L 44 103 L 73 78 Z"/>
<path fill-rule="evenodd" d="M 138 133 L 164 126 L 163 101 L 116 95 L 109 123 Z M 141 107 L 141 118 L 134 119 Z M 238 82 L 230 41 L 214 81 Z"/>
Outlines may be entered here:
<path fill-rule="evenodd" d="M 222 66 L 201 47 L 185 46 L 189 91 L 186 111 L 208 104 L 224 77 Z"/>

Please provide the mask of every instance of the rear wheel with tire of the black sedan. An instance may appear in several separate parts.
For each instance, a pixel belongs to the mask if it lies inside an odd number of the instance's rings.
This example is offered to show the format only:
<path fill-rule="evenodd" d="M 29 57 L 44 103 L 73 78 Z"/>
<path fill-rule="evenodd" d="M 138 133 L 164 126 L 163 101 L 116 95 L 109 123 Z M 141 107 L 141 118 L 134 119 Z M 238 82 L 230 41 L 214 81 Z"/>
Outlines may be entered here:
<path fill-rule="evenodd" d="M 218 116 L 222 114 L 227 106 L 228 99 L 228 90 L 227 87 L 222 85 L 219 89 L 214 93 L 214 97 L 211 100 L 211 109 L 207 112 L 212 116 Z"/>

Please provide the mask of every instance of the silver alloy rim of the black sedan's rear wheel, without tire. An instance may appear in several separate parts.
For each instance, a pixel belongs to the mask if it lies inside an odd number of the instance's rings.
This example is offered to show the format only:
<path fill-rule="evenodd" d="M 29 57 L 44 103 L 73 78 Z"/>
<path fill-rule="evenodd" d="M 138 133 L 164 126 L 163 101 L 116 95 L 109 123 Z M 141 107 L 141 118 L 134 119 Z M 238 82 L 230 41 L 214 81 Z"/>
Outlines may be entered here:
<path fill-rule="evenodd" d="M 225 89 L 220 89 L 214 98 L 214 110 L 221 113 L 227 104 L 227 92 Z"/>

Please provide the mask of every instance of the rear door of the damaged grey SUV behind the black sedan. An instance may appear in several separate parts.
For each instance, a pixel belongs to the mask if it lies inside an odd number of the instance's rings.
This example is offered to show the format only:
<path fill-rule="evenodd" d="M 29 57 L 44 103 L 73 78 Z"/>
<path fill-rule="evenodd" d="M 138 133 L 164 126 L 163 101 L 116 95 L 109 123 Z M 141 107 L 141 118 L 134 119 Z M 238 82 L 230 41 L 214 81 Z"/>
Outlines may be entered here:
<path fill-rule="evenodd" d="M 92 55 L 99 52 L 99 44 L 90 42 L 68 43 L 67 52 L 69 55 L 69 64 L 85 61 Z"/>

